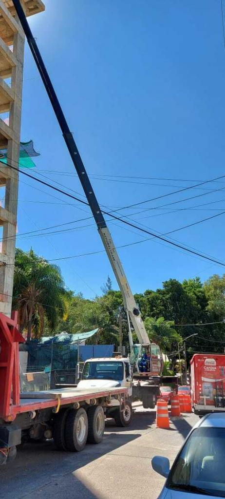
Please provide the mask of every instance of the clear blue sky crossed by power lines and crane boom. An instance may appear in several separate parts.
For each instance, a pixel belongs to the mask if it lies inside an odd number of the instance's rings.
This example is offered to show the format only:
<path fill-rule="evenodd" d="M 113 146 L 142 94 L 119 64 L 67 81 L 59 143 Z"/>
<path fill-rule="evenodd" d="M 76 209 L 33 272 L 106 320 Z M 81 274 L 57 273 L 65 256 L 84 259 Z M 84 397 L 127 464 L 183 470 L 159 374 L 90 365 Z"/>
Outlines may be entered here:
<path fill-rule="evenodd" d="M 29 23 L 101 205 L 119 210 L 225 174 L 220 0 L 45 0 L 45 5 L 45 12 L 29 18 Z M 42 174 L 81 196 L 26 46 L 21 140 L 29 139 L 40 153 L 32 174 Z M 211 192 L 216 189 L 222 191 Z M 225 179 L 122 213 L 165 234 L 225 210 L 223 189 Z M 175 201 L 180 201 L 175 207 L 155 209 Z M 180 208 L 186 210 L 175 212 Z M 71 224 L 70 232 L 20 236 L 89 213 L 76 201 L 20 175 L 17 246 L 32 246 L 48 259 L 102 250 L 92 220 Z M 224 217 L 171 237 L 225 260 Z M 146 238 L 121 223 L 110 223 L 109 229 L 116 246 Z M 133 292 L 156 289 L 171 277 L 199 275 L 205 280 L 224 271 L 223 266 L 156 240 L 120 249 L 119 254 Z M 86 297 L 101 293 L 108 274 L 118 287 L 104 252 L 57 263 L 66 285 Z"/>

